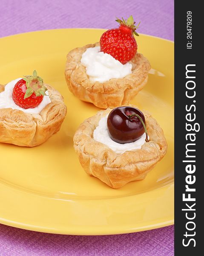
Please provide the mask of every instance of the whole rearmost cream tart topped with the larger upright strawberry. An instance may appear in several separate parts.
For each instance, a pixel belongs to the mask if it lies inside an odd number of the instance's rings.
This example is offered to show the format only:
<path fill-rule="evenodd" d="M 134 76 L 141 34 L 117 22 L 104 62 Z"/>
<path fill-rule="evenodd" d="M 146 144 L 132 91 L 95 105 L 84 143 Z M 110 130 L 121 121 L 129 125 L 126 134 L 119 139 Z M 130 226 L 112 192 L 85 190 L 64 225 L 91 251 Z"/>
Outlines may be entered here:
<path fill-rule="evenodd" d="M 119 28 L 104 32 L 100 43 L 72 49 L 66 59 L 69 90 L 99 108 L 129 104 L 147 83 L 150 70 L 147 58 L 137 53 L 133 34 L 138 35 L 138 26 L 132 15 L 116 21 Z"/>

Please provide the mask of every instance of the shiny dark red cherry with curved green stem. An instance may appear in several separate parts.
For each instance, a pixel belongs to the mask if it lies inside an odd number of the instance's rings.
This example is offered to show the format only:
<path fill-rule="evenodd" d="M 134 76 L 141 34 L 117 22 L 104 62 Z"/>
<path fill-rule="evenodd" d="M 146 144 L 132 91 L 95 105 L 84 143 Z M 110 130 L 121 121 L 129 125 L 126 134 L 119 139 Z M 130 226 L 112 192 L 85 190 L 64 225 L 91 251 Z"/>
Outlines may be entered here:
<path fill-rule="evenodd" d="M 147 132 L 144 114 L 128 106 L 114 108 L 109 113 L 107 126 L 110 138 L 121 144 L 134 142 Z"/>

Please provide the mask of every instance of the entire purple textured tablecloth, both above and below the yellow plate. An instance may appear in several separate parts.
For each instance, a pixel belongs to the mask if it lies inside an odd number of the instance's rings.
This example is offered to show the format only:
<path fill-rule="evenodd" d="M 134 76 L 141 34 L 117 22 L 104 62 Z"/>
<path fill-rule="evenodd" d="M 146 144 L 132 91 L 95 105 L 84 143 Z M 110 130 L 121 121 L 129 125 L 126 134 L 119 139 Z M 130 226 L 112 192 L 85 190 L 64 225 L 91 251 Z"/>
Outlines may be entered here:
<path fill-rule="evenodd" d="M 174 39 L 173 0 L 1 0 L 0 37 L 57 28 L 113 28 L 141 20 L 138 32 Z M 2 205 L 0 207 L 3 207 Z M 172 256 L 173 226 L 114 236 L 63 236 L 0 224 L 0 256 Z"/>

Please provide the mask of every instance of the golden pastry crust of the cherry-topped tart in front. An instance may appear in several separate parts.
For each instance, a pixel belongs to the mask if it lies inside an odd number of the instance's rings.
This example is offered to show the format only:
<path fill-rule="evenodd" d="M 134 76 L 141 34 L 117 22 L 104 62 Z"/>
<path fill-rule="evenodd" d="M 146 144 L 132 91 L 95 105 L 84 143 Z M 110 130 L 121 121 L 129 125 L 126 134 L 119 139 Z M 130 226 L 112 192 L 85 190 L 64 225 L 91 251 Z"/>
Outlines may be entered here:
<path fill-rule="evenodd" d="M 144 111 L 150 141 L 141 149 L 115 153 L 93 139 L 98 122 L 111 110 L 99 111 L 79 126 L 74 135 L 74 148 L 87 174 L 98 177 L 112 188 L 120 188 L 130 181 L 144 179 L 166 154 L 167 142 L 157 121 Z"/>

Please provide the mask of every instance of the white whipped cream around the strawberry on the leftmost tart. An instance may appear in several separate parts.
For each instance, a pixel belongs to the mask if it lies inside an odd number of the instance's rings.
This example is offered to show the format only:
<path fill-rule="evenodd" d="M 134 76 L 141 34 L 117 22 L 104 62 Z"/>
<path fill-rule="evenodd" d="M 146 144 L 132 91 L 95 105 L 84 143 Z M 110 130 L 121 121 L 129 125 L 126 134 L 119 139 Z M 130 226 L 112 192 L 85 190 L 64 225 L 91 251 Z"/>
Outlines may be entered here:
<path fill-rule="evenodd" d="M 6 84 L 4 91 L 0 93 L 0 108 L 12 108 L 12 109 L 21 110 L 29 114 L 39 114 L 43 110 L 43 108 L 45 108 L 45 106 L 51 102 L 48 91 L 46 91 L 47 96 L 43 97 L 43 101 L 36 108 L 28 108 L 28 109 L 20 108 L 18 105 L 15 104 L 12 98 L 13 88 L 17 83 L 17 81 L 19 81 L 20 79 L 22 78 L 15 79 L 9 82 L 8 84 Z"/>

